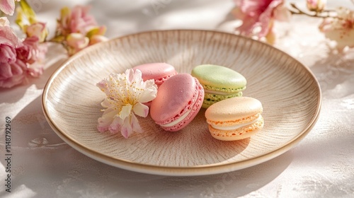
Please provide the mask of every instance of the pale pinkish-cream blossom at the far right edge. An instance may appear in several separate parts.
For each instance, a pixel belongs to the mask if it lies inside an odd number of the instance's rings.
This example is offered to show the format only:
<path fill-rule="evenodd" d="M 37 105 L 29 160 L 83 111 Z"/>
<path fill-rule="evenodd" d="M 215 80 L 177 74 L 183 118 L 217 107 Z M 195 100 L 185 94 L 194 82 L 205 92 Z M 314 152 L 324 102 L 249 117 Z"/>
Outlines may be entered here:
<path fill-rule="evenodd" d="M 337 17 L 325 18 L 319 25 L 319 30 L 337 42 L 339 50 L 344 47 L 354 47 L 354 11 L 348 8 L 338 8 Z"/>

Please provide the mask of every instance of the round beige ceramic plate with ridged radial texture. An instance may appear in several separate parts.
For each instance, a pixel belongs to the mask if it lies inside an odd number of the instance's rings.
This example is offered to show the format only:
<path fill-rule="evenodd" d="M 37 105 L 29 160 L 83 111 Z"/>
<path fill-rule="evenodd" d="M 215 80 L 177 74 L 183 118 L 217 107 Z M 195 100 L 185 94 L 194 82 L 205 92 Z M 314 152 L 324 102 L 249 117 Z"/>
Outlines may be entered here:
<path fill-rule="evenodd" d="M 150 62 L 172 64 L 179 73 L 199 64 L 238 71 L 248 82 L 244 96 L 263 103 L 265 127 L 249 139 L 219 141 L 200 110 L 179 132 L 165 132 L 149 116 L 139 119 L 144 133 L 128 139 L 98 132 L 105 95 L 96 83 Z M 262 42 L 215 31 L 165 30 L 118 37 L 74 55 L 50 77 L 42 106 L 58 136 L 97 161 L 141 173 L 208 175 L 247 168 L 289 150 L 314 126 L 321 91 L 309 69 Z"/>

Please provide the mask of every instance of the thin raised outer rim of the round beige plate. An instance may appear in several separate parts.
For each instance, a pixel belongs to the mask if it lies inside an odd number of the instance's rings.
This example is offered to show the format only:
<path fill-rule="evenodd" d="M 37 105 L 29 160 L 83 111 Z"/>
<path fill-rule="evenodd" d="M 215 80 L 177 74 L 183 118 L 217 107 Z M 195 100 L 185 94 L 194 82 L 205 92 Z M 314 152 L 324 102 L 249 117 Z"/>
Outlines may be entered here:
<path fill-rule="evenodd" d="M 125 37 L 132 37 L 132 36 L 139 36 L 139 35 L 144 35 L 144 34 L 151 34 L 151 33 L 161 33 L 161 32 L 209 32 L 209 33 L 215 33 L 215 34 L 224 34 L 224 35 L 229 35 L 233 37 L 241 37 L 242 39 L 246 40 L 251 40 L 251 42 L 258 42 L 258 45 L 266 45 L 267 47 L 272 48 L 273 50 L 277 51 L 278 53 L 281 53 L 288 58 L 292 59 L 292 61 L 297 62 L 297 65 L 301 66 L 302 69 L 305 69 L 309 76 L 313 79 L 314 83 L 316 84 L 316 88 L 318 88 L 319 92 L 319 97 L 317 98 L 317 107 L 316 107 L 316 112 L 314 116 L 312 117 L 312 120 L 309 122 L 307 127 L 302 130 L 301 133 L 299 133 L 297 136 L 295 136 L 291 141 L 287 141 L 287 144 L 284 146 L 275 149 L 274 151 L 270 151 L 268 153 L 265 153 L 261 156 L 257 156 L 255 158 L 249 158 L 245 159 L 243 161 L 238 161 L 238 162 L 233 162 L 233 163 L 212 163 L 208 165 L 195 165 L 195 166 L 166 166 L 166 165 L 150 165 L 150 164 L 144 164 L 144 163 L 137 163 L 134 161 L 127 161 L 125 159 L 119 159 L 119 158 L 114 158 L 113 156 L 108 156 L 104 153 L 95 151 L 91 148 L 88 148 L 87 146 L 82 145 L 79 141 L 76 141 L 75 139 L 72 139 L 70 136 L 67 136 L 65 132 L 62 132 L 61 129 L 55 124 L 55 122 L 52 120 L 52 117 L 50 117 L 48 110 L 47 110 L 47 94 L 50 88 L 50 85 L 54 81 L 55 77 L 60 74 L 60 72 L 67 67 L 71 62 L 73 62 L 75 59 L 78 59 L 82 55 L 86 54 L 87 52 L 90 52 L 90 50 L 94 50 L 95 48 L 99 48 L 101 45 L 105 45 L 105 42 L 113 42 L 115 40 L 122 40 Z M 279 50 L 276 47 L 273 47 L 272 45 L 269 45 L 268 43 L 261 42 L 258 40 L 253 40 L 249 37 L 244 37 L 241 35 L 235 35 L 232 33 L 225 33 L 217 30 L 188 30 L 188 29 L 176 29 L 176 30 L 149 30 L 149 31 L 144 31 L 144 32 L 139 32 L 139 33 L 133 33 L 133 34 L 128 34 L 128 35 L 122 35 L 120 37 L 114 37 L 108 41 L 105 42 L 100 42 L 96 45 L 92 45 L 90 47 L 87 47 L 84 50 L 81 50 L 80 52 L 74 54 L 72 57 L 69 57 L 67 61 L 62 63 L 48 78 L 47 83 L 45 84 L 45 87 L 43 88 L 42 92 L 42 111 L 45 115 L 45 119 L 47 122 L 50 124 L 50 127 L 53 129 L 53 131 L 62 139 L 64 140 L 69 146 L 72 146 L 73 148 L 76 149 L 76 151 L 79 151 L 81 153 L 84 153 L 84 155 L 89 156 L 90 158 L 95 159 L 96 161 L 100 161 L 102 163 L 106 163 L 108 165 L 113 165 L 118 168 L 123 168 L 125 170 L 132 170 L 135 172 L 139 173 L 148 173 L 148 174 L 154 174 L 154 175 L 169 175 L 169 176 L 192 176 L 192 175 L 212 175 L 212 174 L 217 174 L 217 173 L 227 173 L 230 171 L 234 170 L 241 170 L 244 168 L 249 168 L 253 165 L 258 165 L 260 163 L 263 163 L 265 161 L 269 161 L 270 159 L 273 159 L 277 156 L 280 156 L 282 153 L 285 153 L 286 151 L 289 151 L 290 148 L 295 146 L 296 144 L 299 143 L 302 139 L 304 139 L 307 134 L 312 130 L 314 125 L 316 124 L 316 121 L 319 118 L 319 112 L 321 111 L 321 87 L 319 86 L 319 81 L 317 81 L 316 76 L 312 73 L 312 71 L 299 62 L 297 59 L 292 57 L 290 54 L 287 54 L 287 52 L 283 52 L 282 50 Z"/>

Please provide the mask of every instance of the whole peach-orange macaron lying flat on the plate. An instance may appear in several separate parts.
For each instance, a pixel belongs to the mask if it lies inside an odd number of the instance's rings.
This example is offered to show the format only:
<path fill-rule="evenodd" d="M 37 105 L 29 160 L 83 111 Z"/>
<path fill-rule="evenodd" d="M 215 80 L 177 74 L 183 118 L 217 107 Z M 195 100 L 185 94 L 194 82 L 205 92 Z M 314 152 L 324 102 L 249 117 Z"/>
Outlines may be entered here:
<path fill-rule="evenodd" d="M 264 125 L 262 103 L 256 98 L 236 97 L 222 100 L 205 111 L 210 134 L 215 139 L 246 139 Z"/>

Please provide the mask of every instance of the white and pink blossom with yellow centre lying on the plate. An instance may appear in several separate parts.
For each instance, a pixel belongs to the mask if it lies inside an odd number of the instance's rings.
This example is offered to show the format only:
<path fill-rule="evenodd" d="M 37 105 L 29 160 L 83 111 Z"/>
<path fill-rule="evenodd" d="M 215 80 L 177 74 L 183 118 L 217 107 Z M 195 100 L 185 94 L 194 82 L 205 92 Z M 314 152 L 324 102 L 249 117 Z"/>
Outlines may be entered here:
<path fill-rule="evenodd" d="M 123 74 L 110 74 L 97 86 L 107 95 L 101 103 L 106 109 L 98 118 L 98 131 L 121 132 L 125 138 L 133 132 L 142 132 L 135 115 L 147 117 L 149 107 L 143 103 L 156 98 L 154 80 L 143 81 L 139 69 L 127 69 Z"/>

